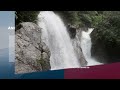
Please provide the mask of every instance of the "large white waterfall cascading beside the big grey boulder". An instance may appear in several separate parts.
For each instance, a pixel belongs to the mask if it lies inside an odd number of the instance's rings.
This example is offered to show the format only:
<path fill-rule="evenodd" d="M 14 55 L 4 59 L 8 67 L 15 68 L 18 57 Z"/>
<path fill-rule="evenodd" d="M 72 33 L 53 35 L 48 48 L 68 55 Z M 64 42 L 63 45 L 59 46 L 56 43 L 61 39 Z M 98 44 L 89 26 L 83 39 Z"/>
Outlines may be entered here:
<path fill-rule="evenodd" d="M 42 28 L 42 40 L 48 45 L 51 70 L 79 68 L 78 61 L 67 29 L 58 15 L 52 11 L 42 11 L 38 15 Z"/>

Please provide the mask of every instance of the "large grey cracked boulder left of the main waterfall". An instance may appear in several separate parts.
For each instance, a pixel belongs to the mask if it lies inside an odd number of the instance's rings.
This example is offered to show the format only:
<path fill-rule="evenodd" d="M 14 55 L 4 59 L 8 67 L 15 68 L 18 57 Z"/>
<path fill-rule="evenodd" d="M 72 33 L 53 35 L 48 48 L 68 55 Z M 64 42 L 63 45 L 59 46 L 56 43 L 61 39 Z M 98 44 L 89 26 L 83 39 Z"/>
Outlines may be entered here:
<path fill-rule="evenodd" d="M 15 72 L 49 70 L 50 51 L 41 40 L 41 29 L 34 23 L 24 22 L 15 31 Z"/>

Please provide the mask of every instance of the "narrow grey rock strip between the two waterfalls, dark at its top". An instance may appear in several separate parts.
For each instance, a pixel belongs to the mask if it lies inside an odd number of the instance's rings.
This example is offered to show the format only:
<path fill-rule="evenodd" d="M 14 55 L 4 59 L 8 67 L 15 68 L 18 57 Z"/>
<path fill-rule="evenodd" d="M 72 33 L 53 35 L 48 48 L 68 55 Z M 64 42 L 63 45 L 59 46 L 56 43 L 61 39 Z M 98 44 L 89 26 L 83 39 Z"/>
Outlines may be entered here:
<path fill-rule="evenodd" d="M 75 27 L 68 26 L 68 33 L 71 37 L 77 58 L 79 59 L 81 66 L 86 66 L 88 62 L 85 60 L 80 43 L 82 30 L 84 30 L 84 28 L 76 29 Z"/>

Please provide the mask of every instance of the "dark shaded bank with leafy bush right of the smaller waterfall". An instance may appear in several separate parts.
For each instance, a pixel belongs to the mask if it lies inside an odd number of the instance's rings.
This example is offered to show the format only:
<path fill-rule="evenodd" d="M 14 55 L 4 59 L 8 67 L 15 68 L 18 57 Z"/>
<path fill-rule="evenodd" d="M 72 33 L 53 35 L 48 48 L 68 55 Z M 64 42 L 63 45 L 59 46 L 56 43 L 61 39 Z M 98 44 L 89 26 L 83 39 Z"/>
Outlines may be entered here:
<path fill-rule="evenodd" d="M 91 33 L 92 55 L 100 62 L 120 62 L 120 12 L 104 11 L 102 16 Z"/>

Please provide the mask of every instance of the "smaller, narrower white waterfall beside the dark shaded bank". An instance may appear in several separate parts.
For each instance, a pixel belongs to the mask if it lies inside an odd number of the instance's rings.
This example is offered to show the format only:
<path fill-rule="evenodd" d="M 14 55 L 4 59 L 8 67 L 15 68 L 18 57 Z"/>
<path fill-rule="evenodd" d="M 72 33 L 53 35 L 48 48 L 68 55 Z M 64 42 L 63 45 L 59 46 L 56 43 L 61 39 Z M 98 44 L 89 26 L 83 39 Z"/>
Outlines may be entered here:
<path fill-rule="evenodd" d="M 91 38 L 90 38 L 90 33 L 93 31 L 93 29 L 88 29 L 88 31 L 82 31 L 82 36 L 81 36 L 81 48 L 83 51 L 83 54 L 85 56 L 86 61 L 88 62 L 87 66 L 92 66 L 92 65 L 99 65 L 102 63 L 97 62 L 93 57 L 91 57 Z"/>

